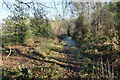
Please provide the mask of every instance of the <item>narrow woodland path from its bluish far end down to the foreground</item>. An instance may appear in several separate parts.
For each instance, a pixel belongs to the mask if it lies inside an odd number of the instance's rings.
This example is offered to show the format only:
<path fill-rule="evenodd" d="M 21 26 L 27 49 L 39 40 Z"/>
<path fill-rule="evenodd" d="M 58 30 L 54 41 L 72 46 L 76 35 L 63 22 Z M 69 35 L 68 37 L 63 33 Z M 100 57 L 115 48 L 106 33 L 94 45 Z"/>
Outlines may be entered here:
<path fill-rule="evenodd" d="M 67 54 L 67 57 L 64 59 L 64 61 L 67 62 L 69 67 L 68 72 L 70 71 L 72 75 L 69 75 L 69 77 L 79 79 L 82 63 L 81 59 L 77 58 L 76 50 L 72 49 L 72 47 L 76 48 L 76 42 L 71 37 L 66 37 L 63 40 L 66 43 L 63 53 Z"/>

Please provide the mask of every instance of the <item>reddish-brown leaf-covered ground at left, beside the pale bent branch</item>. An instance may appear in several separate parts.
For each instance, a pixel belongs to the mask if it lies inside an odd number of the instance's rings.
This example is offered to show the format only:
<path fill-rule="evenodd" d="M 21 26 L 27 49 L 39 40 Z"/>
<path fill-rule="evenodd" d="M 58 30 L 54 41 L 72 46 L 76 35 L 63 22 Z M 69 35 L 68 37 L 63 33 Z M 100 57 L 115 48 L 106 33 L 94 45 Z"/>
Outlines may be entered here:
<path fill-rule="evenodd" d="M 24 66 L 33 68 L 33 67 L 41 65 L 42 62 L 38 63 L 37 61 L 32 60 L 27 57 L 27 56 L 29 56 L 27 54 L 27 52 L 30 50 L 30 48 L 31 47 L 22 46 L 22 45 L 12 46 L 11 47 L 12 54 L 8 58 L 7 58 L 8 54 L 5 54 L 5 52 L 3 52 L 3 54 L 2 54 L 3 66 L 18 68 L 19 66 L 24 65 Z M 9 49 L 9 47 L 7 47 L 7 49 Z M 37 62 L 37 64 L 36 64 L 36 62 Z"/>

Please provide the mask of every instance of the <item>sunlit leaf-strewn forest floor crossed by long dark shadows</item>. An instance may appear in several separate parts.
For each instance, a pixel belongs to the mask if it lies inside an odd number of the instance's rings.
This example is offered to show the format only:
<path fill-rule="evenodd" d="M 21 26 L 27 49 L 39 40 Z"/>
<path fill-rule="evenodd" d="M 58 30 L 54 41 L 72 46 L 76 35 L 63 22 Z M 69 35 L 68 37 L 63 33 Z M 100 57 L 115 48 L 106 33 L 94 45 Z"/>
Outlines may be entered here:
<path fill-rule="evenodd" d="M 82 48 L 65 46 L 64 41 L 50 39 L 30 45 L 7 47 L 8 50 L 3 50 L 2 55 L 3 80 L 87 78 L 93 67 L 91 59 L 83 56 Z M 12 54 L 7 57 L 9 48 L 12 49 Z"/>

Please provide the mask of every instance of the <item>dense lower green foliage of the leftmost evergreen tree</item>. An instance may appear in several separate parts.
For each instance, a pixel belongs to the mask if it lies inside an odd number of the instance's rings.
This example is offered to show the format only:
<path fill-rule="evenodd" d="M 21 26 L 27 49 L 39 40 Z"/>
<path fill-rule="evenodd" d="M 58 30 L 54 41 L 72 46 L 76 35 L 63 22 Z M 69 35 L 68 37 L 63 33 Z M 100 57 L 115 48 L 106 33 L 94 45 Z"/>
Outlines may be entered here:
<path fill-rule="evenodd" d="M 25 32 L 27 26 L 22 21 L 21 23 L 16 22 L 14 19 L 10 18 L 6 20 L 5 29 L 3 31 L 3 41 L 4 38 L 8 39 L 8 42 L 18 42 L 24 43 Z M 6 42 L 5 42 L 6 43 Z"/>

